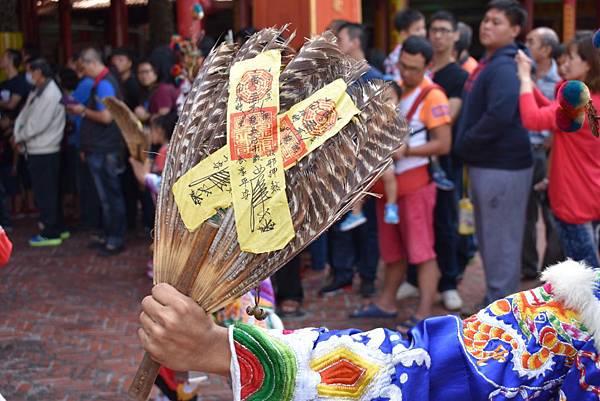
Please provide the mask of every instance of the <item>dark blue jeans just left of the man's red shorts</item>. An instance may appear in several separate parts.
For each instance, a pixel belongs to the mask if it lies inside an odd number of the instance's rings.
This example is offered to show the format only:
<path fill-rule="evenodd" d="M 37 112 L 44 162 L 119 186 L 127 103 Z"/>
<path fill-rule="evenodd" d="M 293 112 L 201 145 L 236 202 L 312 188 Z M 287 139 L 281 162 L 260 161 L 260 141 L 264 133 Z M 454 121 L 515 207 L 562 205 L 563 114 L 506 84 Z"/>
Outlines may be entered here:
<path fill-rule="evenodd" d="M 367 218 L 365 224 L 343 232 L 340 230 L 340 223 L 336 223 L 328 231 L 331 267 L 335 278 L 339 281 L 351 281 L 354 266 L 358 268 L 362 280 L 373 281 L 377 275 L 379 243 L 375 199 L 365 199 L 363 213 Z"/>

